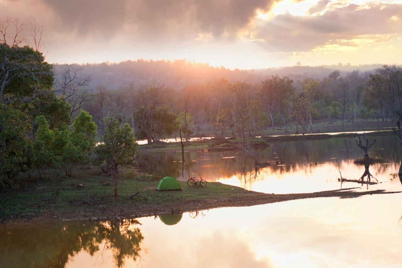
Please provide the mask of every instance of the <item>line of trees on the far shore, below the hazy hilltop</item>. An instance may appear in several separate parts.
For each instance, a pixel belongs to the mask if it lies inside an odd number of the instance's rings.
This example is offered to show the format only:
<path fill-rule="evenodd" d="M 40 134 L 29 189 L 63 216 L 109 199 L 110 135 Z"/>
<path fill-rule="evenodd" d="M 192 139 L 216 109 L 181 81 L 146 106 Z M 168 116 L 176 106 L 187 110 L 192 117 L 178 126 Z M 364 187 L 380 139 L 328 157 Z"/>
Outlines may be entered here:
<path fill-rule="evenodd" d="M 319 79 L 305 78 L 297 89 L 288 76 L 272 75 L 260 82 L 197 83 L 173 88 L 161 83 L 129 83 L 117 89 L 99 86 L 82 103 L 103 133 L 103 118 L 127 122 L 138 139 L 148 143 L 178 136 L 254 136 L 280 127 L 313 131 L 313 122 L 340 120 L 353 124 L 395 118 L 402 103 L 402 69 L 384 65 L 375 72 L 334 70 Z"/>

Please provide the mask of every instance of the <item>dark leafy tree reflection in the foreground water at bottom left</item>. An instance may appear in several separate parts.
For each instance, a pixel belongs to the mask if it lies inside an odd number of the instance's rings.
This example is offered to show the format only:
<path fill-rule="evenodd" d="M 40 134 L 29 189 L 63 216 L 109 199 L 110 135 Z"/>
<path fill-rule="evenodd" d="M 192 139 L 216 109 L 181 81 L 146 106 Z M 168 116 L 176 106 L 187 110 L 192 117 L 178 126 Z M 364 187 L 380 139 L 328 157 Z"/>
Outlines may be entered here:
<path fill-rule="evenodd" d="M 113 252 L 116 266 L 121 267 L 125 258 L 135 260 L 139 254 L 144 237 L 134 227 L 136 223 L 125 220 L 4 229 L 0 267 L 64 267 L 81 250 L 93 256 L 105 249 Z"/>

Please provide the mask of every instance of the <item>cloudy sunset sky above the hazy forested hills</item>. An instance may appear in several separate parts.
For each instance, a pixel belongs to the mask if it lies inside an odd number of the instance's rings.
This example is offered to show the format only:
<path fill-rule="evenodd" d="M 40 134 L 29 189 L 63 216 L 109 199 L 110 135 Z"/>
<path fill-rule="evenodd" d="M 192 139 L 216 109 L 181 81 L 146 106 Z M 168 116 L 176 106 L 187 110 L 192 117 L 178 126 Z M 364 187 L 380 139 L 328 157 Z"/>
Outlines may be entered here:
<path fill-rule="evenodd" d="M 5 18 L 43 25 L 50 63 L 402 64 L 402 0 L 0 0 Z"/>

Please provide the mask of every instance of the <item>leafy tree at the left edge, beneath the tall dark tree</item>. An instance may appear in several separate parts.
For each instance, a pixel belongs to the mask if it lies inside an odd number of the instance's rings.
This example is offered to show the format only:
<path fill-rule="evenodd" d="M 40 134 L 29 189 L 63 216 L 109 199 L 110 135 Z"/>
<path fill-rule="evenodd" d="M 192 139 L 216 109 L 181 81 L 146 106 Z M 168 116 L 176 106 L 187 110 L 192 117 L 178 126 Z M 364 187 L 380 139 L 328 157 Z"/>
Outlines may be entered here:
<path fill-rule="evenodd" d="M 28 168 L 28 132 L 31 118 L 26 107 L 0 105 L 0 187 L 14 185 L 12 179 Z"/>

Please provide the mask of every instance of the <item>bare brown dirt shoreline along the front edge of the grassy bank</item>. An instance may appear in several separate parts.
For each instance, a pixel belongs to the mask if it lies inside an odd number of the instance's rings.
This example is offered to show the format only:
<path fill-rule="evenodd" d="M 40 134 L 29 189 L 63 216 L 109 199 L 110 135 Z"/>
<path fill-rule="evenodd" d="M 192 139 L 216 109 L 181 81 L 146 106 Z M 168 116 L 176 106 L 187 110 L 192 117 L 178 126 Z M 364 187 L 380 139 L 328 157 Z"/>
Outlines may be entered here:
<path fill-rule="evenodd" d="M 238 187 L 232 187 L 238 188 Z M 240 188 L 241 189 L 241 188 Z M 176 202 L 168 206 L 152 205 L 137 203 L 132 206 L 111 206 L 101 213 L 98 210 L 80 210 L 76 212 L 58 211 L 44 213 L 40 216 L 35 216 L 32 218 L 21 218 L 21 219 L 9 219 L 3 221 L 2 225 L 7 226 L 18 226 L 18 225 L 29 225 L 36 223 L 49 223 L 49 222 L 63 222 L 63 221 L 97 221 L 106 219 L 130 219 L 139 218 L 143 216 L 154 216 L 163 213 L 183 213 L 192 212 L 199 210 L 207 210 L 212 208 L 222 208 L 222 207 L 240 207 L 240 206 L 254 206 L 260 204 L 270 204 L 276 202 L 285 202 L 290 200 L 299 200 L 307 198 L 322 198 L 322 197 L 339 197 L 339 198 L 357 198 L 364 195 L 372 194 L 396 194 L 398 192 L 386 192 L 385 190 L 372 190 L 366 192 L 355 192 L 353 190 L 359 189 L 355 188 L 345 188 L 338 190 L 313 192 L 313 193 L 302 193 L 302 194 L 265 194 L 260 192 L 244 191 L 242 194 L 236 196 L 224 197 L 224 198 L 206 198 L 204 200 L 191 200 L 188 202 Z"/>

